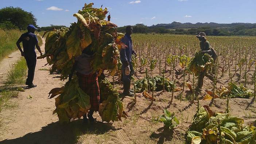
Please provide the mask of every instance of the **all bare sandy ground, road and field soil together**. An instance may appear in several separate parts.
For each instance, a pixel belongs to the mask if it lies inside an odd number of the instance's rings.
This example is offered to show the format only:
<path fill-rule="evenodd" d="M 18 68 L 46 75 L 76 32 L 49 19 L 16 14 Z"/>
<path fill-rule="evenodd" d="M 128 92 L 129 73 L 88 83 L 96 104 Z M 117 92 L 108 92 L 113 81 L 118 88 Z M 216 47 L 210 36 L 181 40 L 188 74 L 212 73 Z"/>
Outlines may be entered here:
<path fill-rule="evenodd" d="M 43 39 L 44 43 L 44 39 Z M 44 44 L 43 44 L 44 46 Z M 44 50 L 44 47 L 41 47 Z M 19 53 L 14 52 L 9 59 L 1 62 L 0 71 L 6 69 L 7 63 L 13 63 L 19 59 Z M 85 125 L 82 120 L 72 121 L 68 125 L 61 125 L 56 114 L 52 114 L 55 109 L 55 100 L 47 99 L 48 93 L 54 87 L 59 87 L 65 82 L 59 81 L 57 74 L 49 74 L 49 71 L 39 70 L 49 68 L 44 66 L 46 59 L 37 61 L 34 83 L 37 87 L 27 89 L 20 93 L 18 98 L 12 101 L 18 104 L 17 108 L 4 109 L 0 113 L 2 125 L 0 126 L 0 144 L 73 144 L 73 143 L 170 143 L 182 144 L 185 141 L 184 135 L 193 116 L 197 110 L 197 102 L 180 101 L 174 98 L 170 103 L 171 93 L 156 92 L 156 101 L 150 101 L 137 94 L 136 104 L 132 97 L 122 98 L 125 111 L 129 114 L 127 119 L 114 123 L 101 122 L 98 113 L 94 114 L 97 122 L 94 126 Z M 5 66 L 3 66 L 3 64 Z M 7 65 L 8 66 L 8 65 Z M 158 70 L 151 72 L 156 75 Z M 138 73 L 142 77 L 144 72 Z M 5 78 L 3 73 L 2 78 Z M 168 77 L 171 77 L 167 75 Z M 178 84 L 182 83 L 181 75 L 176 75 Z M 186 78 L 187 79 L 187 78 Z M 220 85 L 227 85 L 228 75 L 220 79 Z M 234 78 L 235 79 L 235 78 Z M 251 76 L 250 76 L 251 79 Z M 191 78 L 190 78 L 191 81 Z M 240 81 L 242 82 L 243 79 Z M 250 80 L 251 82 L 251 80 Z M 116 82 L 118 83 L 118 82 Z M 115 85 L 118 89 L 121 85 Z M 181 85 L 180 85 L 181 86 Z M 212 83 L 205 78 L 204 88 L 210 88 Z M 248 83 L 249 88 L 253 85 Z M 181 92 L 175 92 L 178 97 Z M 189 93 L 185 87 L 184 98 Z M 32 99 L 27 97 L 31 95 Z M 210 101 L 200 100 L 200 105 L 208 105 Z M 252 104 L 252 99 L 234 98 L 229 101 L 230 113 L 233 116 L 243 117 L 245 124 L 256 120 L 256 104 Z M 247 110 L 245 110 L 247 108 Z M 163 124 L 153 121 L 157 116 L 163 114 L 163 109 L 175 112 L 180 123 L 174 131 L 164 131 Z M 213 110 L 224 112 L 226 100 L 216 99 L 216 106 Z"/>

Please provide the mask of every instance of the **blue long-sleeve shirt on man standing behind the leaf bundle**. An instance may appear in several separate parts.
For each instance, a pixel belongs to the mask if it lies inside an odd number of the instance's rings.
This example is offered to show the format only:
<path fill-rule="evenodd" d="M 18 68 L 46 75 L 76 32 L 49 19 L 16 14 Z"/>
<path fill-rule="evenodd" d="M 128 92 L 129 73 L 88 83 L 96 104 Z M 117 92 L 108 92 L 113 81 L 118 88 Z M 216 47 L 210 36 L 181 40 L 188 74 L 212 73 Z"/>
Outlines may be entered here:
<path fill-rule="evenodd" d="M 124 37 L 121 39 L 127 47 L 121 48 L 120 50 L 120 60 L 121 62 L 131 62 L 132 61 L 132 54 L 134 54 L 134 50 L 132 49 L 132 38 L 130 35 L 125 34 Z"/>

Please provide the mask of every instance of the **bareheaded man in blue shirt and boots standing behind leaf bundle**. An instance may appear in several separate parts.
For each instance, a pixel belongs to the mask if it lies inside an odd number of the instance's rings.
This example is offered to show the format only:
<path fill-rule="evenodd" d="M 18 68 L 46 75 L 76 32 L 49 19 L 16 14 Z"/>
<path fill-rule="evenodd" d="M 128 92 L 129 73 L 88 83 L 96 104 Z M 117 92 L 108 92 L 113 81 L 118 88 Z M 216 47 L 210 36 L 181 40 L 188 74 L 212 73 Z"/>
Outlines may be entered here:
<path fill-rule="evenodd" d="M 133 96 L 133 90 L 130 90 L 131 86 L 131 76 L 133 75 L 133 67 L 132 67 L 132 54 L 135 55 L 135 51 L 132 49 L 132 26 L 126 27 L 126 33 L 124 37 L 121 39 L 121 41 L 127 46 L 125 48 L 121 48 L 120 50 L 120 60 L 123 63 L 122 65 L 122 74 L 123 74 L 123 86 L 124 86 L 124 92 L 123 96 Z"/>

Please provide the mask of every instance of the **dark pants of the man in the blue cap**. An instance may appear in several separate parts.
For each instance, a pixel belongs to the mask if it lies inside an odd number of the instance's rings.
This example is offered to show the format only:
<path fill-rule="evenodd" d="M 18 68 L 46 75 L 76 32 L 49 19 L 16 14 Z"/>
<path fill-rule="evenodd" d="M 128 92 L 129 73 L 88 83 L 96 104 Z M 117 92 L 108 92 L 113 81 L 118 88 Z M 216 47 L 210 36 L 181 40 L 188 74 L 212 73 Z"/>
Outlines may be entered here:
<path fill-rule="evenodd" d="M 28 66 L 28 78 L 26 80 L 26 85 L 32 85 L 35 74 L 36 57 L 25 56 L 27 66 Z"/>

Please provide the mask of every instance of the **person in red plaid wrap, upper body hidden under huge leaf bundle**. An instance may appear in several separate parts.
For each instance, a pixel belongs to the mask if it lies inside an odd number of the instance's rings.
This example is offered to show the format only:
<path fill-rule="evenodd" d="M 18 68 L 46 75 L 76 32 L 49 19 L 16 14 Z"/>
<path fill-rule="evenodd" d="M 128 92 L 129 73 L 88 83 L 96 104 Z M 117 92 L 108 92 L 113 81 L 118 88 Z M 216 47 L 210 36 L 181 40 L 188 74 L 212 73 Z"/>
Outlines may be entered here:
<path fill-rule="evenodd" d="M 69 75 L 69 81 L 76 71 L 78 77 L 79 87 L 90 96 L 90 109 L 84 117 L 84 122 L 87 123 L 88 119 L 91 124 L 94 123 L 93 112 L 97 112 L 100 106 L 100 88 L 98 84 L 98 73 L 93 72 L 90 65 L 93 60 L 94 52 L 91 50 L 90 45 L 86 47 L 82 54 L 75 58 L 73 69 Z M 88 117 L 88 118 L 87 118 Z"/>

